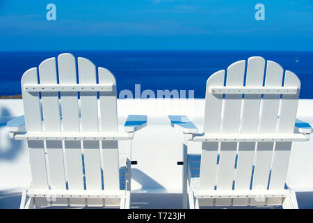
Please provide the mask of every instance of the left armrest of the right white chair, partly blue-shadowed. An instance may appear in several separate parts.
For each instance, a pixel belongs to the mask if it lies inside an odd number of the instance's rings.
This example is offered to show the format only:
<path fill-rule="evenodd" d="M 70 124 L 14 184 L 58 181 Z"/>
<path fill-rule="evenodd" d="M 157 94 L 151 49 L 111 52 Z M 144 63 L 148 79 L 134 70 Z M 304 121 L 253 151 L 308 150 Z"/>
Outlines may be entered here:
<path fill-rule="evenodd" d="M 173 128 L 180 128 L 186 134 L 198 133 L 198 128 L 187 116 L 168 116 L 168 118 L 170 118 L 170 125 Z"/>

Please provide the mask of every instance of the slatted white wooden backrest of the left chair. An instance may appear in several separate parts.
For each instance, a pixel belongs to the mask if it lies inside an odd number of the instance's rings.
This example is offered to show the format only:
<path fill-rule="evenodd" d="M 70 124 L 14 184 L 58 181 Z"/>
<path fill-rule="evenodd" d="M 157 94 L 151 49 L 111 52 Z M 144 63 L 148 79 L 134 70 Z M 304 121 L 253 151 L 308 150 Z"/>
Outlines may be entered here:
<path fill-rule="evenodd" d="M 101 91 L 99 84 L 111 91 Z M 27 70 L 22 97 L 27 132 L 118 130 L 115 77 L 105 68 L 96 70 L 88 59 L 60 54 Z M 29 140 L 28 146 L 34 189 L 120 190 L 118 141 Z M 102 201 L 88 199 L 89 204 L 102 206 Z"/>

